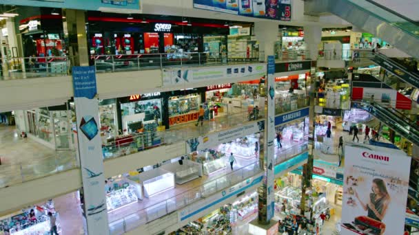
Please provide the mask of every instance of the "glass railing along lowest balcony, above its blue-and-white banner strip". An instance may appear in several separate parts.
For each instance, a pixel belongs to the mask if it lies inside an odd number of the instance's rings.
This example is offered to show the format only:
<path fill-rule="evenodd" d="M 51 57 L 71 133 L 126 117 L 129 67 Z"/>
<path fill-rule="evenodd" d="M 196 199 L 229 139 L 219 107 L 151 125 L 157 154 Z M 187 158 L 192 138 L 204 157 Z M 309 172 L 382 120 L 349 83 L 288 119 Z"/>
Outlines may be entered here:
<path fill-rule="evenodd" d="M 110 219 L 110 234 L 124 234 L 130 230 L 134 230 L 134 228 L 144 225 L 145 223 L 159 219 L 166 214 L 185 208 L 187 205 L 207 198 L 225 188 L 241 183 L 245 179 L 249 179 L 260 172 L 263 172 L 263 164 L 260 161 L 255 161 L 254 163 L 234 172 L 230 172 L 223 177 L 218 177 L 212 181 L 205 182 L 202 186 L 182 192 L 170 199 L 158 201 L 152 206 L 143 208 L 133 214 L 124 216 L 123 218 Z"/>

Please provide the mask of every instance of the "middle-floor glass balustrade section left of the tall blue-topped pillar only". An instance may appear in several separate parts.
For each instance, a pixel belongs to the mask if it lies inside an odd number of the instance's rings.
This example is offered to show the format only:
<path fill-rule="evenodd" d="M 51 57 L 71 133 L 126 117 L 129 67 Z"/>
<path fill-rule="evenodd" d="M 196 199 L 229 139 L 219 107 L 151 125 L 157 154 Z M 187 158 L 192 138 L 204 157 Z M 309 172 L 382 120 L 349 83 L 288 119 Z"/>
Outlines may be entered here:
<path fill-rule="evenodd" d="M 0 188 L 79 167 L 76 152 L 58 152 L 41 159 L 0 165 Z"/>

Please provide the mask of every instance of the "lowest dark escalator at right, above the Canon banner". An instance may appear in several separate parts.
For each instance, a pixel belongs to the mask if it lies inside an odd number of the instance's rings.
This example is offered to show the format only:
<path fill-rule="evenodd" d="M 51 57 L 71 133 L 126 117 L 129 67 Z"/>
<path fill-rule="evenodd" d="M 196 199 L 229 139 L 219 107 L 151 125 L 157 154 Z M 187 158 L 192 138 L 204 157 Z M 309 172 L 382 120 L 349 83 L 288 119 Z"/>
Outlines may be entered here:
<path fill-rule="evenodd" d="M 405 137 L 409 142 L 419 146 L 419 128 L 416 123 L 411 122 L 405 115 L 393 108 L 385 108 L 379 104 L 369 104 L 367 102 L 353 102 L 354 107 L 364 109 L 385 125 Z"/>

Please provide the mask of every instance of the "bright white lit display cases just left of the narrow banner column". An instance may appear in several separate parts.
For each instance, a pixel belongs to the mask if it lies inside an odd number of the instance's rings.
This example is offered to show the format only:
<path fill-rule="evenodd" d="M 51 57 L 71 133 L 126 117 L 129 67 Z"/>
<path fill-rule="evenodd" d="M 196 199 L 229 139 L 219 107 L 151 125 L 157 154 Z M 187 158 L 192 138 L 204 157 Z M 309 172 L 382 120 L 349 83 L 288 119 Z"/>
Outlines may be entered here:
<path fill-rule="evenodd" d="M 259 141 L 259 134 L 247 135 L 246 137 L 238 138 L 232 142 L 221 144 L 218 146 L 218 151 L 225 153 L 227 156 L 233 153 L 234 157 L 241 157 L 244 159 L 251 159 L 255 155 L 255 143 Z"/>

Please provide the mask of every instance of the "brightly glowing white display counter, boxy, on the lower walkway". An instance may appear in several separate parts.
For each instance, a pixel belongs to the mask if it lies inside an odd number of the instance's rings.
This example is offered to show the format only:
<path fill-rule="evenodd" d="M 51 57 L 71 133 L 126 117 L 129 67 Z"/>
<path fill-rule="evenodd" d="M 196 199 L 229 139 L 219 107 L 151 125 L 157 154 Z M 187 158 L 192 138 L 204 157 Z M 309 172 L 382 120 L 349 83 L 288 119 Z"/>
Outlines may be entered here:
<path fill-rule="evenodd" d="M 148 170 L 139 175 L 139 181 L 143 184 L 144 197 L 152 197 L 155 194 L 174 188 L 174 173 L 162 168 Z"/>

